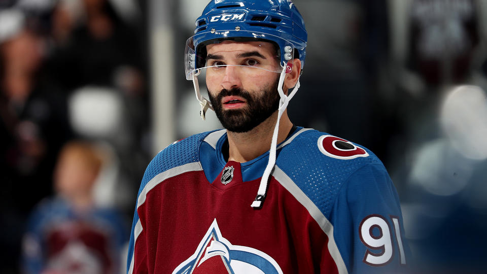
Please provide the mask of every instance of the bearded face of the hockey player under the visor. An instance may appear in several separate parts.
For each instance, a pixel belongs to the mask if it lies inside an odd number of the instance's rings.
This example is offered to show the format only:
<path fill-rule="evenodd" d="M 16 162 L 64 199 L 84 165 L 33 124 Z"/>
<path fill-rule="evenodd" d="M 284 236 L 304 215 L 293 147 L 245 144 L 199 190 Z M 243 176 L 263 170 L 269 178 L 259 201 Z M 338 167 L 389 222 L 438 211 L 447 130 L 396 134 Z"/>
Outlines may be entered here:
<path fill-rule="evenodd" d="M 279 62 L 267 42 L 223 42 L 208 45 L 206 87 L 222 125 L 247 132 L 279 108 Z M 264 68 L 264 69 L 261 69 Z"/>

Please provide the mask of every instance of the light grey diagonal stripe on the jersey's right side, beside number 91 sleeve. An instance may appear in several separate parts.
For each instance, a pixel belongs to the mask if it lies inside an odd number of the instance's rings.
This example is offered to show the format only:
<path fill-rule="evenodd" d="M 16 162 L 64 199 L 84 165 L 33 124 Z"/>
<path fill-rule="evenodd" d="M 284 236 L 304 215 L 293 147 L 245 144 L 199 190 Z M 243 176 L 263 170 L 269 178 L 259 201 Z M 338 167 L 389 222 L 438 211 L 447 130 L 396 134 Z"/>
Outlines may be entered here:
<path fill-rule="evenodd" d="M 308 211 L 309 215 L 320 225 L 321 229 L 328 236 L 328 251 L 331 257 L 336 263 L 338 273 L 348 273 L 346 270 L 345 262 L 340 255 L 338 246 L 335 243 L 335 238 L 333 237 L 333 225 L 330 221 L 323 215 L 323 213 L 318 209 L 316 204 L 309 199 L 309 197 L 304 194 L 304 192 L 289 178 L 289 176 L 284 173 L 284 171 L 275 165 L 274 172 L 272 174 L 274 178 L 279 182 L 284 188 L 286 188 L 296 200 L 301 203 L 304 208 Z"/>

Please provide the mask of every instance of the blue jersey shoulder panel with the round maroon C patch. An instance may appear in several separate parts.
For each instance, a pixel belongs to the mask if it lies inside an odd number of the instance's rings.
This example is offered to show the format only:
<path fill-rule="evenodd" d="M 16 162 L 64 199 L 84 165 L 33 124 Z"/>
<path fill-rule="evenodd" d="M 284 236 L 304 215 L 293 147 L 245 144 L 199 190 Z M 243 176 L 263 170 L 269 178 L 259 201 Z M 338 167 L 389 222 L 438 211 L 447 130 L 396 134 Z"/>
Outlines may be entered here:
<path fill-rule="evenodd" d="M 370 150 L 318 130 L 299 134 L 283 148 L 276 164 L 327 218 L 352 174 L 367 165 L 386 170 Z"/>

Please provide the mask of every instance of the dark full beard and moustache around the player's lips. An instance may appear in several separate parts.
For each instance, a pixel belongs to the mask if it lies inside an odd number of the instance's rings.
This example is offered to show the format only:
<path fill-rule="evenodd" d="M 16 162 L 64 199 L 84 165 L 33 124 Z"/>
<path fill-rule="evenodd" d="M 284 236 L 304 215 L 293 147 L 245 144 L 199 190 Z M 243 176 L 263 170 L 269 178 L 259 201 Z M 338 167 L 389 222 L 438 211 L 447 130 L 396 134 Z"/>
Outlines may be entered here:
<path fill-rule="evenodd" d="M 261 90 L 260 96 L 258 94 L 252 96 L 248 91 L 233 88 L 230 90 L 222 89 L 220 93 L 214 97 L 208 91 L 208 96 L 213 106 L 218 120 L 223 127 L 232 132 L 247 132 L 260 125 L 263 121 L 269 118 L 277 109 L 279 109 L 279 78 L 270 87 L 265 87 Z M 238 110 L 224 110 L 222 106 L 222 98 L 224 96 L 240 96 L 247 101 L 247 106 Z"/>

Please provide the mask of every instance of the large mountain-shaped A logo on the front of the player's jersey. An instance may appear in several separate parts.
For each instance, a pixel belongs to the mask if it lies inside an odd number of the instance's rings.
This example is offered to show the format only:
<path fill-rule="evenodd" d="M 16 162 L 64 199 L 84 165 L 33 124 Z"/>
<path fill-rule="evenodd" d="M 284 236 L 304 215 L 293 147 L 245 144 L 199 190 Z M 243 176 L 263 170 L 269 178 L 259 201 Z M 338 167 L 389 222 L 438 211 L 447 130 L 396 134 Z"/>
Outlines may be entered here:
<path fill-rule="evenodd" d="M 230 244 L 215 219 L 195 253 L 172 271 L 172 274 L 190 273 L 282 274 L 283 271 L 262 251 Z"/>

